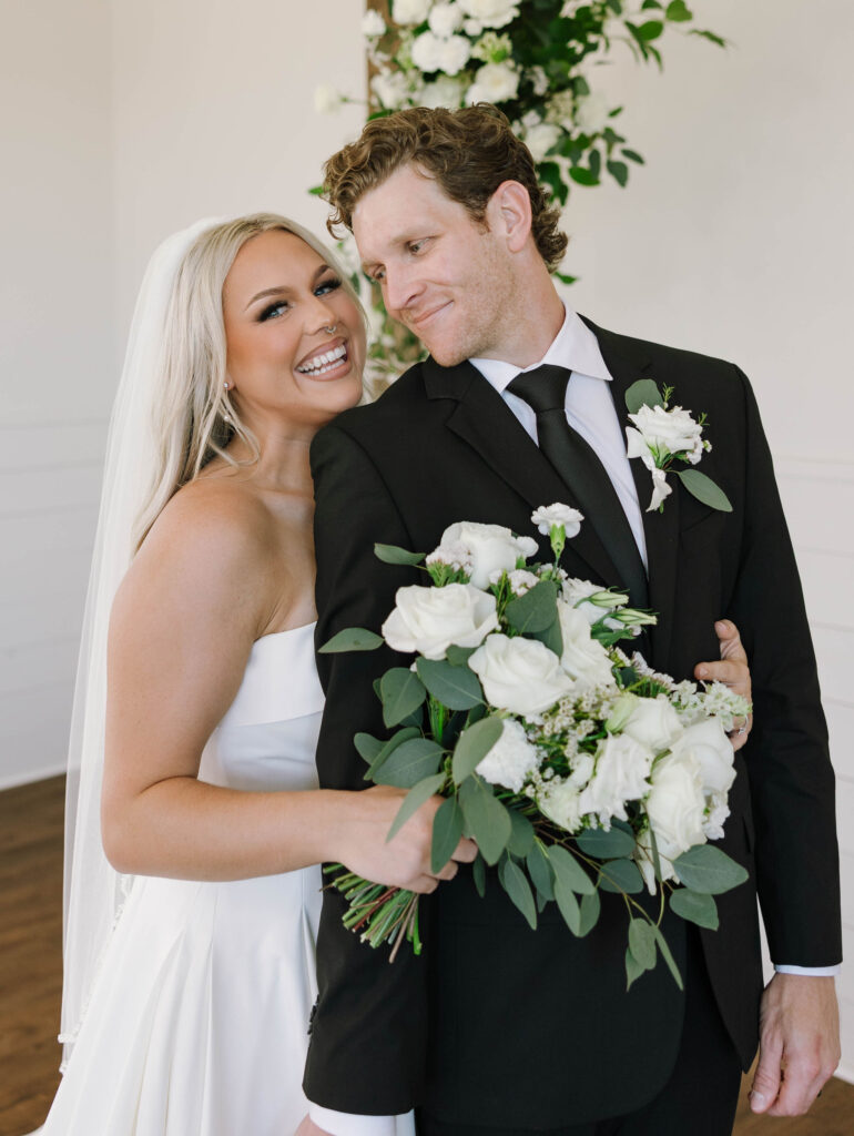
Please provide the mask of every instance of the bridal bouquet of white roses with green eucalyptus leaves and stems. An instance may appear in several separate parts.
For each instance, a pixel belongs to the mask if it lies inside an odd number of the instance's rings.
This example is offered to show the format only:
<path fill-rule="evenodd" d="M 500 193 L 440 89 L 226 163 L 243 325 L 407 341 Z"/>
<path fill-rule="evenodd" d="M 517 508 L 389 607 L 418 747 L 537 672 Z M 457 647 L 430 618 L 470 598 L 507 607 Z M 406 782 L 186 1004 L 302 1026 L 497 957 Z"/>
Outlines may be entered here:
<path fill-rule="evenodd" d="M 573 935 L 600 916 L 601 892 L 622 896 L 627 982 L 660 953 L 681 979 L 661 933 L 664 904 L 715 928 L 714 895 L 747 877 L 708 842 L 722 836 L 735 777 L 727 730 L 748 703 L 728 687 L 698 687 L 654 673 L 618 644 L 654 624 L 628 596 L 573 579 L 558 565 L 581 515 L 537 509 L 553 563 L 533 563 L 536 541 L 499 525 L 451 525 L 426 556 L 375 545 L 387 563 L 419 565 L 424 586 L 399 588 L 382 635 L 340 632 L 325 652 L 383 642 L 411 666 L 376 684 L 387 740 L 357 734 L 366 779 L 408 788 L 391 838 L 433 795 L 432 869 L 462 835 L 531 928 L 556 903 Z M 418 895 L 327 867 L 349 901 L 348 927 L 371 946 L 405 941 L 420 953 Z M 658 903 L 639 902 L 646 888 Z M 652 912 L 652 913 L 651 913 Z"/>

